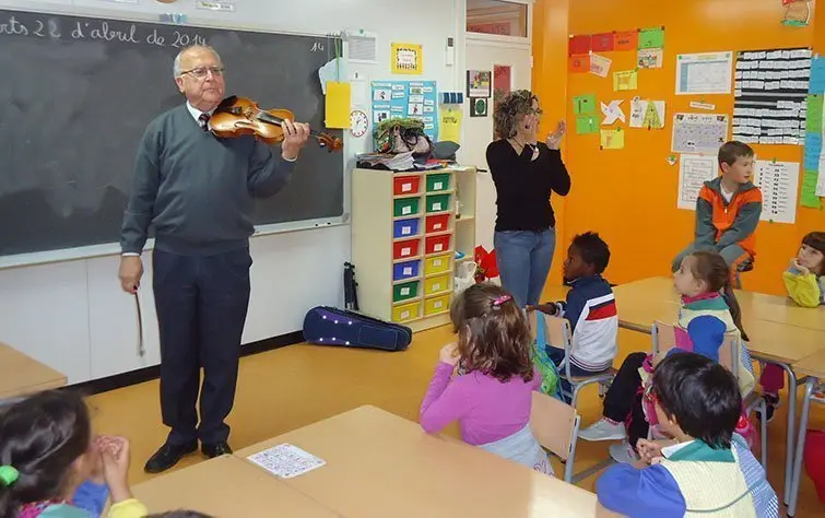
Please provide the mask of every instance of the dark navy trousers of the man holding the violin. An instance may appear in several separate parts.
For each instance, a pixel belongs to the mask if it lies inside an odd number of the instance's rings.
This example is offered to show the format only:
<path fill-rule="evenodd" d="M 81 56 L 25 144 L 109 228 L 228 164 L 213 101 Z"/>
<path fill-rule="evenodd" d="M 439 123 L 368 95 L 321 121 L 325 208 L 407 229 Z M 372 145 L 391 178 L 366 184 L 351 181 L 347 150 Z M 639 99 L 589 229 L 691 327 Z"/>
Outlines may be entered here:
<path fill-rule="evenodd" d="M 249 305 L 248 248 L 215 256 L 152 255 L 161 333 L 161 410 L 168 442 L 227 440 Z M 203 385 L 200 386 L 200 369 Z M 198 390 L 200 388 L 200 426 Z"/>

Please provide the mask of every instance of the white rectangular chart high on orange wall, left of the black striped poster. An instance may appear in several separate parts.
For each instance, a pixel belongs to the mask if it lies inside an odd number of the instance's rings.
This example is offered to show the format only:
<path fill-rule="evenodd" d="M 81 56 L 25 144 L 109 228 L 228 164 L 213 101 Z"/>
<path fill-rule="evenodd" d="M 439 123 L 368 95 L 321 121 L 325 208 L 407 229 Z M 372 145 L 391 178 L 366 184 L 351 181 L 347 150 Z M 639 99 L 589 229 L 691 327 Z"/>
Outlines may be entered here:
<path fill-rule="evenodd" d="M 729 94 L 733 52 L 676 56 L 676 95 Z"/>

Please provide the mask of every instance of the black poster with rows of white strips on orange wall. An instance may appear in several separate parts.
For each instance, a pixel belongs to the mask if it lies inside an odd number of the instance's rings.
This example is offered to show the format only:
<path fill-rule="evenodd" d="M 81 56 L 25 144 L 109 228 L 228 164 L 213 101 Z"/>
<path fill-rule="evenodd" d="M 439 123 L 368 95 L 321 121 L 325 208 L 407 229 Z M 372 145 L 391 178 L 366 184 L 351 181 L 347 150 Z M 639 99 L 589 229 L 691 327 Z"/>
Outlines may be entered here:
<path fill-rule="evenodd" d="M 811 49 L 736 54 L 733 138 L 749 144 L 804 145 Z"/>

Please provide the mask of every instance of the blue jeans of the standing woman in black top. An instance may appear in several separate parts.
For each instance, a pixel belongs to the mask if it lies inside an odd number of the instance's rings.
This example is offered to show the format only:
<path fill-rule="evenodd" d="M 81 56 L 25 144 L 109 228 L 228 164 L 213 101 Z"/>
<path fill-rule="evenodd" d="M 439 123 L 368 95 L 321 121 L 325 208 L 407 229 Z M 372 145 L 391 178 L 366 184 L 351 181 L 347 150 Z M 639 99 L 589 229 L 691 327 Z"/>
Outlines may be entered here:
<path fill-rule="evenodd" d="M 539 304 L 556 248 L 556 231 L 503 231 L 493 235 L 502 286 L 519 307 Z"/>

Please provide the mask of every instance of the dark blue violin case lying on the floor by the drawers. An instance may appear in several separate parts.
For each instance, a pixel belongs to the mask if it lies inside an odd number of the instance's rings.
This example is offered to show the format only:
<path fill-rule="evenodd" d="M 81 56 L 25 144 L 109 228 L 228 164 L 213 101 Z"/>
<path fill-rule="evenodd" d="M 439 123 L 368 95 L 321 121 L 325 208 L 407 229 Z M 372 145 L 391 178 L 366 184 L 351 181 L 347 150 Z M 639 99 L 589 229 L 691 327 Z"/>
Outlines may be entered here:
<path fill-rule="evenodd" d="M 304 317 L 304 340 L 316 345 L 404 351 L 412 329 L 360 313 L 316 306 Z"/>

